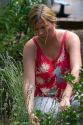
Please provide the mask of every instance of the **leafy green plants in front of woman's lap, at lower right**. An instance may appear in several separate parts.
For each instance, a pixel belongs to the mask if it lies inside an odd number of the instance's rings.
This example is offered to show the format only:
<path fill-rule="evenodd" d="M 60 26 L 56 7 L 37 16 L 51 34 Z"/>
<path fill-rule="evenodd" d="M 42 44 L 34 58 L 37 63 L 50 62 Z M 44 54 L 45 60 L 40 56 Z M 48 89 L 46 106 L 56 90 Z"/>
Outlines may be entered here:
<path fill-rule="evenodd" d="M 64 111 L 59 112 L 56 117 L 50 113 L 42 114 L 36 111 L 41 125 L 82 125 L 83 124 L 83 69 L 80 69 L 80 81 L 74 83 L 75 77 L 70 73 L 66 74 L 65 80 L 73 87 L 74 99 L 77 105 L 71 105 Z"/>

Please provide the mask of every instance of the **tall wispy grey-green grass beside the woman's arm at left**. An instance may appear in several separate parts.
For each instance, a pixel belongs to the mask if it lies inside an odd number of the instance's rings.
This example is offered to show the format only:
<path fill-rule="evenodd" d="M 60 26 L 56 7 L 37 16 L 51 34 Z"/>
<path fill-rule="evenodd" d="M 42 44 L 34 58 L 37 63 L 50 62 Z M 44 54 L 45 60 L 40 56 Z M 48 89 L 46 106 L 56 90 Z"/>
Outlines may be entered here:
<path fill-rule="evenodd" d="M 15 60 L 6 54 L 6 56 L 0 56 L 3 62 L 3 68 L 0 68 L 0 76 L 2 86 L 6 86 L 6 98 L 4 100 L 4 111 L 6 112 L 7 107 L 11 107 L 9 114 L 10 125 L 27 125 L 28 115 L 25 111 L 24 99 L 23 99 L 23 71 L 22 64 L 16 63 Z M 4 88 L 3 88 L 4 89 Z M 2 89 L 2 90 L 3 90 Z M 10 103 L 7 103 L 7 96 L 11 97 Z M 3 100 L 2 100 L 3 101 Z M 8 108 L 9 110 L 9 108 Z"/>

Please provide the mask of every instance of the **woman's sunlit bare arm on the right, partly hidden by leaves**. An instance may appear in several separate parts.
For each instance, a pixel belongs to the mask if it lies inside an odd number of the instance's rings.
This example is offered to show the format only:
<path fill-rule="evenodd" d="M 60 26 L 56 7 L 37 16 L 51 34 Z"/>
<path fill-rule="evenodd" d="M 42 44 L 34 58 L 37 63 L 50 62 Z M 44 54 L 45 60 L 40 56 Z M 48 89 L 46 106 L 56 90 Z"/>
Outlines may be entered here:
<path fill-rule="evenodd" d="M 68 31 L 66 47 L 70 56 L 71 74 L 75 76 L 74 82 L 76 83 L 79 81 L 79 72 L 82 65 L 82 61 L 80 52 L 80 39 L 75 33 Z M 63 109 L 65 106 L 70 106 L 70 97 L 72 93 L 73 88 L 68 83 L 62 95 L 62 100 L 59 103 L 60 109 Z"/>

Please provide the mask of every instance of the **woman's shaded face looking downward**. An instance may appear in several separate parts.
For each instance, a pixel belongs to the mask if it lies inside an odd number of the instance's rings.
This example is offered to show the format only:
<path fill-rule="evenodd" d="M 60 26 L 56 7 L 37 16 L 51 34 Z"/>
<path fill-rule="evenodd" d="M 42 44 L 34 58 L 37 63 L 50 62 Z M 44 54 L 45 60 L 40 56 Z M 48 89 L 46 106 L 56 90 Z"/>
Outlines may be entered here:
<path fill-rule="evenodd" d="M 55 24 L 40 19 L 35 25 L 35 32 L 40 39 L 46 39 L 46 37 L 53 34 L 54 28 Z"/>

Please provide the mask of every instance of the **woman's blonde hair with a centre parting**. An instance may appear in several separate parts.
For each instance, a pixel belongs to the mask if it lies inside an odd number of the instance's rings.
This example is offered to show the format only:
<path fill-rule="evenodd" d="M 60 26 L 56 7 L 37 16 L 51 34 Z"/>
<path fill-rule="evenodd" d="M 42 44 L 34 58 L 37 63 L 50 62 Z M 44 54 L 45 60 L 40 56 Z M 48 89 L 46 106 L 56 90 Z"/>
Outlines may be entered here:
<path fill-rule="evenodd" d="M 35 24 L 40 18 L 42 18 L 44 21 L 49 21 L 56 24 L 56 15 L 54 11 L 44 4 L 34 5 L 29 13 L 29 21 L 33 27 L 35 27 Z"/>

